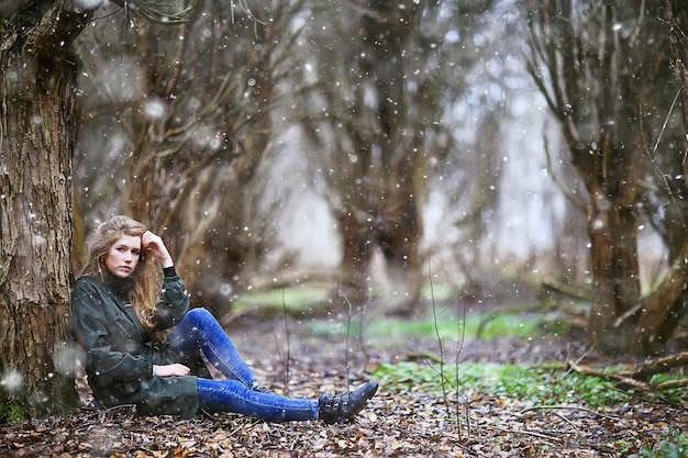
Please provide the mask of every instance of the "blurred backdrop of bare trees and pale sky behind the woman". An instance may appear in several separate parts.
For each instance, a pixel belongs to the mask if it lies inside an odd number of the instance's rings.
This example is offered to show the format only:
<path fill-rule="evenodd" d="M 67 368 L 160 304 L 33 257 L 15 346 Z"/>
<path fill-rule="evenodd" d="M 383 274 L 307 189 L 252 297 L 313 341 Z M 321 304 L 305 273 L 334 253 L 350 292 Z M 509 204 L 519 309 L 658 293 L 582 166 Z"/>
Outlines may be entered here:
<path fill-rule="evenodd" d="M 665 2 L 615 3 L 106 3 L 76 44 L 82 225 L 148 224 L 218 315 L 295 284 L 637 302 L 683 249 L 686 130 Z"/>

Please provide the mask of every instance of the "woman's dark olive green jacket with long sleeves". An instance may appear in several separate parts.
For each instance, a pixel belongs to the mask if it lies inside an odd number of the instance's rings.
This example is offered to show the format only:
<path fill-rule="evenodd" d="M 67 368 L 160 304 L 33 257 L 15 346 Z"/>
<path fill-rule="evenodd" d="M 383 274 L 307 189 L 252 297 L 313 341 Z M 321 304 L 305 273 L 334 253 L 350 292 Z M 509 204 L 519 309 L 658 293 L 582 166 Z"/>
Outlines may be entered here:
<path fill-rule="evenodd" d="M 146 329 L 124 294 L 124 281 L 77 280 L 71 295 L 73 325 L 86 354 L 86 372 L 93 398 L 110 407 L 135 404 L 141 414 L 190 417 L 198 410 L 195 376 L 153 377 L 153 365 L 181 360 L 154 332 L 178 324 L 189 310 L 184 281 L 165 269 L 156 327 Z"/>

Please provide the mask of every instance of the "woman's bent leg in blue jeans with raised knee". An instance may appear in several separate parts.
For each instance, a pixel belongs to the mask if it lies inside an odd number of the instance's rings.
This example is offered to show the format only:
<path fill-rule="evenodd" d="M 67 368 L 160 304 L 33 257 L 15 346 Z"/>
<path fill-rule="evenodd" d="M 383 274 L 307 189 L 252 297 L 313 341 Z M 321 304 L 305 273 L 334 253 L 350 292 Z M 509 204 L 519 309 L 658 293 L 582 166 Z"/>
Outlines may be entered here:
<path fill-rule="evenodd" d="M 169 336 L 186 360 L 198 361 L 200 351 L 224 377 L 255 387 L 255 376 L 220 323 L 206 309 L 191 309 Z"/>

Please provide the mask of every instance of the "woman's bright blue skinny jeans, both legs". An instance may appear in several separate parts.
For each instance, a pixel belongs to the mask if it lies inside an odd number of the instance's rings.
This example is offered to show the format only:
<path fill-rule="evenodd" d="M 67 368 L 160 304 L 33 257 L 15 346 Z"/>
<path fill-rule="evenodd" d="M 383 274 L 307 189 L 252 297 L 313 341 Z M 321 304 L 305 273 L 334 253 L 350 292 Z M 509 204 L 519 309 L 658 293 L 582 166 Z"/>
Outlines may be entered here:
<path fill-rule="evenodd" d="M 220 323 L 206 309 L 191 309 L 169 336 L 191 368 L 202 365 L 201 351 L 226 380 L 198 378 L 199 406 L 208 412 L 235 412 L 270 422 L 317 420 L 318 401 L 285 398 L 251 389 L 253 371 Z"/>

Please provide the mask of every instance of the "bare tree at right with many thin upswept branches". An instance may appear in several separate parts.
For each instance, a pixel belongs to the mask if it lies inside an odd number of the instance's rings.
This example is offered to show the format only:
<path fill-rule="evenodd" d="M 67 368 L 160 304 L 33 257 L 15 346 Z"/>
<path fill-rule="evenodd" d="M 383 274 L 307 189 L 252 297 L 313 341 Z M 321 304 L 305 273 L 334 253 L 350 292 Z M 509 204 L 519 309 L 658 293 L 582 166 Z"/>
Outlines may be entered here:
<path fill-rule="evenodd" d="M 524 11 L 530 72 L 588 192 L 589 342 L 610 354 L 661 351 L 676 326 L 687 259 L 683 245 L 672 248 L 665 280 L 641 298 L 640 209 L 667 192 L 678 197 L 659 158 L 683 149 L 677 133 L 685 132 L 672 111 L 680 85 L 668 62 L 666 2 L 526 1 Z"/>

